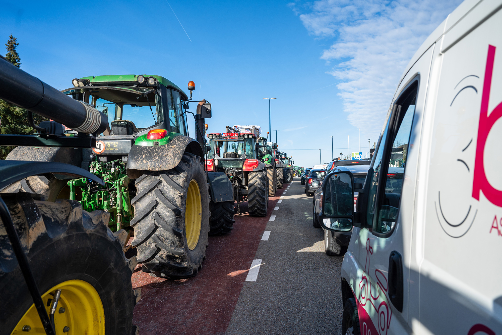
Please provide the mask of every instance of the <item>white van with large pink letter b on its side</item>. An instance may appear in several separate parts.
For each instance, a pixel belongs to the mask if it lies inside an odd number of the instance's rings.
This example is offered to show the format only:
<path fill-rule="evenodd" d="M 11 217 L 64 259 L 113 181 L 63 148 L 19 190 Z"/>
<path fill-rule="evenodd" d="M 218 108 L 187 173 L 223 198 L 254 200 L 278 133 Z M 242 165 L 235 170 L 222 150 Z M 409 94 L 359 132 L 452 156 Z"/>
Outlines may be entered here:
<path fill-rule="evenodd" d="M 354 226 L 343 334 L 502 333 L 501 8 L 464 1 L 415 53 L 364 185 L 324 179 L 320 223 Z M 388 173 L 397 142 L 401 177 Z"/>

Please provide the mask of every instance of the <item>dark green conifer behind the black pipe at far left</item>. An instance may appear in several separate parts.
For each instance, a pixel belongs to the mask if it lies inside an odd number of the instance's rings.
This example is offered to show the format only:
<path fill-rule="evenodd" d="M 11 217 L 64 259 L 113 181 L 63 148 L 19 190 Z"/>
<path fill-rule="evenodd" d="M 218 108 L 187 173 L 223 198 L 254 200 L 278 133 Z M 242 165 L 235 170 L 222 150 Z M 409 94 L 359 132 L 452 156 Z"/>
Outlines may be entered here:
<path fill-rule="evenodd" d="M 17 39 L 11 34 L 6 44 L 7 54 L 5 55 L 5 58 L 17 67 L 21 67 L 21 57 L 16 50 L 18 45 L 19 43 Z M 33 119 L 35 123 L 48 121 L 47 118 L 36 114 L 33 115 Z M 34 129 L 30 126 L 26 110 L 24 108 L 11 105 L 4 100 L 0 100 L 0 133 L 21 135 L 33 134 Z M 0 146 L 0 159 L 5 159 L 12 149 L 14 149 L 13 146 Z"/>

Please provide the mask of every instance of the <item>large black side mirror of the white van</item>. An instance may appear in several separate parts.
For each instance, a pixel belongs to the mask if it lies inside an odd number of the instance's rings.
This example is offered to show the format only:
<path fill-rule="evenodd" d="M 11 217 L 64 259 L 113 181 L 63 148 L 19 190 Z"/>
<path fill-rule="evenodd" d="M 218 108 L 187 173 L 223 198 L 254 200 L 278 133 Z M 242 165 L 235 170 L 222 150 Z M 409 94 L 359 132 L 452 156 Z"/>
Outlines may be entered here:
<path fill-rule="evenodd" d="M 322 183 L 319 223 L 324 229 L 350 231 L 354 222 L 354 178 L 349 171 L 328 173 Z"/>

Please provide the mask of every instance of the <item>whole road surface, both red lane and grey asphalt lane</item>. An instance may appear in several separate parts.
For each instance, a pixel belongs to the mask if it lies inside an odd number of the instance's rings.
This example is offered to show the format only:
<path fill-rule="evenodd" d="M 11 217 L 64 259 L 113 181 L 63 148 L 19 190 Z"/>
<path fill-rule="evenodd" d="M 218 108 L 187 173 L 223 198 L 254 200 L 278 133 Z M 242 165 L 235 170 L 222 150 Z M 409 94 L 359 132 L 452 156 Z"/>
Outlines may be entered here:
<path fill-rule="evenodd" d="M 340 333 L 342 258 L 324 253 L 323 231 L 312 226 L 312 197 L 299 179 L 288 186 L 269 198 L 266 217 L 249 216 L 242 203 L 232 232 L 209 237 L 197 276 L 152 277 L 138 264 L 132 282 L 142 298 L 133 322 L 140 334 Z M 268 240 L 261 240 L 264 231 Z M 262 265 L 249 282 L 254 260 Z"/>

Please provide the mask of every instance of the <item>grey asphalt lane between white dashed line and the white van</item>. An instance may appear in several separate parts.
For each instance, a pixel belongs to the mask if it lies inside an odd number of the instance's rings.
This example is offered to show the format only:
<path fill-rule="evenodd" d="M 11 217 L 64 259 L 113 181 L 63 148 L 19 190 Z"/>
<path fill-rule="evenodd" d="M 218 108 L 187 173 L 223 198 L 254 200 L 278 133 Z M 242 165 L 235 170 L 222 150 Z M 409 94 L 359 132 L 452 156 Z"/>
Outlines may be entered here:
<path fill-rule="evenodd" d="M 312 197 L 295 179 L 277 203 L 256 282 L 244 282 L 226 330 L 233 334 L 338 334 L 341 332 L 342 257 L 324 253 L 324 234 L 312 226 Z"/>

